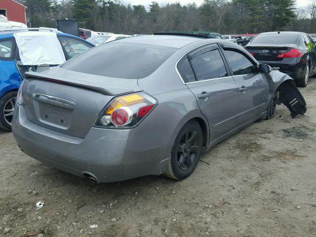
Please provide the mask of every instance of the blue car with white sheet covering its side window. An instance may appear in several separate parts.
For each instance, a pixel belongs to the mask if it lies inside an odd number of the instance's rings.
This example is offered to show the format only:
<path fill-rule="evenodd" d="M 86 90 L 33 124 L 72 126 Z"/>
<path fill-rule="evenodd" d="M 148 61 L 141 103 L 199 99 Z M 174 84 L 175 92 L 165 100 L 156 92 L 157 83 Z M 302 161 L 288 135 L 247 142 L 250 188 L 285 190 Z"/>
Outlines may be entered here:
<path fill-rule="evenodd" d="M 46 55 L 40 55 L 41 50 L 37 44 L 40 42 L 37 39 L 38 32 L 43 32 L 43 29 L 32 29 L 25 30 L 29 32 L 31 38 L 34 41 L 29 45 L 29 53 L 32 59 L 32 52 L 34 52 L 35 57 L 40 59 L 49 57 L 49 50 L 51 44 L 44 45 L 44 51 Z M 47 30 L 46 30 L 47 31 Z M 15 33 L 21 33 L 23 31 L 3 31 L 0 32 L 0 128 L 4 130 L 11 130 L 12 117 L 14 112 L 14 106 L 16 102 L 17 91 L 24 78 L 25 72 L 41 72 L 48 70 L 52 67 L 58 66 L 54 65 L 36 65 L 36 62 L 32 65 L 25 65 L 22 63 L 19 53 L 19 42 L 17 41 Z M 34 33 L 34 36 L 32 34 Z M 91 47 L 95 46 L 86 40 L 80 39 L 79 37 L 64 34 L 61 32 L 55 32 L 57 39 L 61 45 L 62 52 L 60 53 L 64 60 L 69 60 L 74 56 L 77 56 Z M 56 37 L 55 37 L 56 40 Z M 31 40 L 32 41 L 32 40 Z M 57 40 L 56 40 L 57 41 Z M 58 41 L 55 44 L 59 44 Z M 55 45 L 56 46 L 56 45 Z M 33 48 L 32 48 L 33 47 Z M 58 45 L 59 47 L 59 45 Z M 59 47 L 60 48 L 60 47 Z M 47 53 L 48 52 L 48 53 Z M 54 54 L 54 49 L 51 49 L 52 54 Z M 59 63 L 60 64 L 60 63 Z"/>

